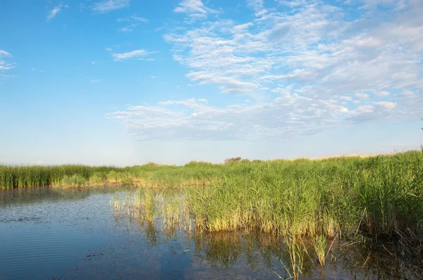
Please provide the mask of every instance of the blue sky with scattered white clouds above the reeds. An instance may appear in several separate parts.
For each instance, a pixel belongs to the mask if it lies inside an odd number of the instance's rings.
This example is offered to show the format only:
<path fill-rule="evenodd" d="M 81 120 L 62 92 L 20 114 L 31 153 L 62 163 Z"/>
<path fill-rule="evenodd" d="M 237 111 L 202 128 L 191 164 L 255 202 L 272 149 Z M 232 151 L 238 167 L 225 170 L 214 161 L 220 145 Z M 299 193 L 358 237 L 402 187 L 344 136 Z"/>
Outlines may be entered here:
<path fill-rule="evenodd" d="M 423 143 L 421 0 L 0 1 L 0 163 Z"/>

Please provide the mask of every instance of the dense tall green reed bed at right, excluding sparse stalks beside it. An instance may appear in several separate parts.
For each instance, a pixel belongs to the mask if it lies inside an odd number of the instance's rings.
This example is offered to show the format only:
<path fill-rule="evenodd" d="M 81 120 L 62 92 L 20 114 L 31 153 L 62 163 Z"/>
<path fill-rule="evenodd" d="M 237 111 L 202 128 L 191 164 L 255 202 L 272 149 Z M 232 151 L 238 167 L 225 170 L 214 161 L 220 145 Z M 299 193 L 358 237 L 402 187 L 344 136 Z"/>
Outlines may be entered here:
<path fill-rule="evenodd" d="M 243 164 L 213 187 L 190 193 L 196 224 L 207 231 L 259 229 L 333 238 L 422 234 L 423 156 Z"/>

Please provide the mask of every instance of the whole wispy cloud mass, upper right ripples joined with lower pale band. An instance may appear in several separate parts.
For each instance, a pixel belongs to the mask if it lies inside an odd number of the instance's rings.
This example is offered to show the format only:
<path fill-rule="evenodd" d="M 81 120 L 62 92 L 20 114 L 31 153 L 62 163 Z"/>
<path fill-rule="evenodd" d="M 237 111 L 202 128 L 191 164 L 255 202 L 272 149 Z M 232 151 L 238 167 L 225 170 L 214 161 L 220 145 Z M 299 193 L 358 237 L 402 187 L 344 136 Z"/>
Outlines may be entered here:
<path fill-rule="evenodd" d="M 203 21 L 164 35 L 173 59 L 189 69 L 193 83 L 253 101 L 210 106 L 191 98 L 107 117 L 140 140 L 271 139 L 418 118 L 423 2 L 404 0 L 401 8 L 398 1 L 350 2 L 279 0 L 280 6 L 266 8 L 266 2 L 251 0 L 252 20 L 239 23 L 207 20 L 202 2 L 183 1 L 177 12 L 192 11 Z M 350 14 L 351 5 L 363 12 Z"/>

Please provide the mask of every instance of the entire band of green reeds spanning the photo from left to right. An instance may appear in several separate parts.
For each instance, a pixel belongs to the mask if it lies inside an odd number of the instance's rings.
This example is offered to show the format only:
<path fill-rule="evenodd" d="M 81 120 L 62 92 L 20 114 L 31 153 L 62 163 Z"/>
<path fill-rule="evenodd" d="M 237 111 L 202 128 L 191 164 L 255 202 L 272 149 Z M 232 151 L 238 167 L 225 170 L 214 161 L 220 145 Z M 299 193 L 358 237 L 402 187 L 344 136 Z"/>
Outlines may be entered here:
<path fill-rule="evenodd" d="M 337 234 L 423 240 L 422 151 L 225 165 L 0 166 L 0 186 L 5 189 L 107 184 L 185 190 L 185 217 L 200 231 L 258 230 L 293 240 L 331 240 Z M 157 198 L 147 189 L 140 193 L 140 203 L 143 215 L 152 219 L 159 212 L 152 203 Z M 168 202 L 164 211 L 172 213 L 180 203 Z"/>

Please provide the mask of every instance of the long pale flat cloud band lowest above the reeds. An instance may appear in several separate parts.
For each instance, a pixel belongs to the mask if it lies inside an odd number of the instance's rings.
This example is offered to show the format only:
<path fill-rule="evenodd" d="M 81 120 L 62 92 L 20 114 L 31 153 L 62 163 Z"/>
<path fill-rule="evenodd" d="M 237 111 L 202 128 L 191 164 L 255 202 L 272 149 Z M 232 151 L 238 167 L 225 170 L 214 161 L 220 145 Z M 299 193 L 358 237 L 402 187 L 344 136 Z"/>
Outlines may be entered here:
<path fill-rule="evenodd" d="M 205 99 L 190 98 L 130 106 L 106 117 L 121 122 L 139 140 L 260 140 L 367 122 L 386 117 L 396 106 L 379 102 L 350 111 L 335 100 L 280 92 L 273 101 L 248 106 L 209 106 Z"/>

